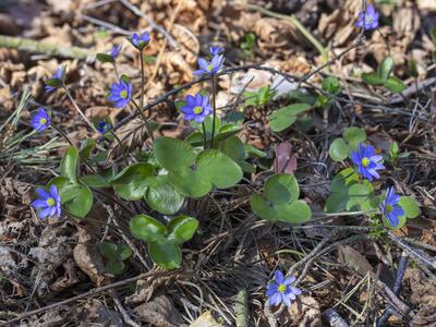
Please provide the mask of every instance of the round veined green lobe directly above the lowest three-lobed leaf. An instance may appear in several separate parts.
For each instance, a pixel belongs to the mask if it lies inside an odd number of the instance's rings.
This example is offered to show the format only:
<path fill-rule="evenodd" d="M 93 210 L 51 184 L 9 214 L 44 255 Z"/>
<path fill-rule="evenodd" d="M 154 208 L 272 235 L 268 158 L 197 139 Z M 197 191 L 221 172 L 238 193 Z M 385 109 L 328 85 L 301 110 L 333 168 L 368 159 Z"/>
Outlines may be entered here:
<path fill-rule="evenodd" d="M 167 175 L 161 174 L 150 179 L 145 201 L 160 214 L 172 215 L 183 205 L 184 196 L 170 184 Z"/>

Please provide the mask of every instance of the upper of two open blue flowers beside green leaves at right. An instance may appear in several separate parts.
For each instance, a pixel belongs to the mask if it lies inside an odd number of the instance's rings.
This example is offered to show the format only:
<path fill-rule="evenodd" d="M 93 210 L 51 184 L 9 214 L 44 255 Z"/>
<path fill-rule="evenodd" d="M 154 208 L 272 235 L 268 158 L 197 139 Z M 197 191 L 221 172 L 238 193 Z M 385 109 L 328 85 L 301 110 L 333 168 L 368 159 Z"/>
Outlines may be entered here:
<path fill-rule="evenodd" d="M 374 178 L 378 179 L 380 175 L 377 170 L 384 169 L 383 156 L 375 155 L 375 148 L 371 145 L 359 145 L 358 152 L 351 152 L 351 160 L 358 166 L 358 172 L 362 174 L 370 182 Z"/>

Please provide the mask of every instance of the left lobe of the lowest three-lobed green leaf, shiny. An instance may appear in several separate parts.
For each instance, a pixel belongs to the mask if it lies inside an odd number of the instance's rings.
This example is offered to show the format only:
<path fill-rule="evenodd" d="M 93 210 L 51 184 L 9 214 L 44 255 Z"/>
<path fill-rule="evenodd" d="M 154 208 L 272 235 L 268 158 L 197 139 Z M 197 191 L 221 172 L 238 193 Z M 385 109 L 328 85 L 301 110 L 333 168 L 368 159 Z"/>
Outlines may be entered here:
<path fill-rule="evenodd" d="M 137 215 L 130 220 L 129 223 L 131 233 L 145 242 L 165 243 L 167 241 L 167 228 L 156 219 L 146 216 Z"/>

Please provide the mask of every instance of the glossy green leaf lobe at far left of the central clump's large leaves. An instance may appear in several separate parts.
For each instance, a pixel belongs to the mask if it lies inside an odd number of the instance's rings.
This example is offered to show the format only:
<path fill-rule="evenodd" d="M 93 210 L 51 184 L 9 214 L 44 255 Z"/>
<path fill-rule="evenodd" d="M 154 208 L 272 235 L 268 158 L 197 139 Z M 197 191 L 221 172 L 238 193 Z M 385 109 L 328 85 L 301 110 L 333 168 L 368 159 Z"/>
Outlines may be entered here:
<path fill-rule="evenodd" d="M 145 195 L 154 172 L 154 167 L 144 162 L 125 167 L 111 181 L 113 191 L 124 199 L 140 199 Z"/>

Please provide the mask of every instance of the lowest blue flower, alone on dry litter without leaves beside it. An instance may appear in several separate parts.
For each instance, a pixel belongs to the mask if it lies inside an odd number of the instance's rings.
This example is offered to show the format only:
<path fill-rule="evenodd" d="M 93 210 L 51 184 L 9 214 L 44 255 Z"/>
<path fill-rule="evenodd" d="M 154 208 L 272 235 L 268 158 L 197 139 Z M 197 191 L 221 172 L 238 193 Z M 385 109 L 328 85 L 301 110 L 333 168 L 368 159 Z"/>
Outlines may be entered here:
<path fill-rule="evenodd" d="M 272 282 L 268 284 L 266 295 L 269 304 L 276 306 L 283 303 L 286 306 L 291 305 L 291 301 L 301 294 L 301 290 L 291 286 L 295 281 L 295 277 L 283 277 L 280 270 L 276 270 Z"/>

